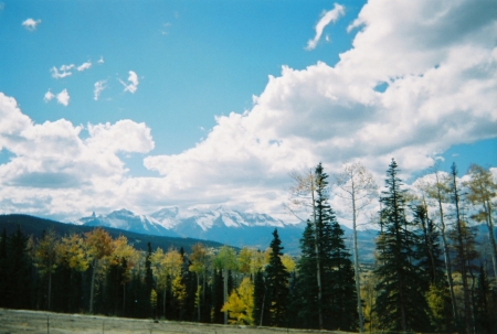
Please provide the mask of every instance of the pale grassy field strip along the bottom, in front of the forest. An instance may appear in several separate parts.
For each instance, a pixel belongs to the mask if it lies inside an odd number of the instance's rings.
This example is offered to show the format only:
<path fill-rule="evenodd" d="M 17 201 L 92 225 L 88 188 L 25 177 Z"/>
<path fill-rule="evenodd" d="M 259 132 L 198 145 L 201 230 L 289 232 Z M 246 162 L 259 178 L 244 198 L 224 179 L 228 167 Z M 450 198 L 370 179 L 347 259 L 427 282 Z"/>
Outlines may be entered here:
<path fill-rule="evenodd" d="M 198 324 L 109 317 L 98 315 L 65 314 L 40 311 L 0 309 L 0 334 L 13 333 L 191 333 L 191 334 L 277 334 L 277 333 L 345 333 L 310 330 L 251 327 L 237 325 Z"/>

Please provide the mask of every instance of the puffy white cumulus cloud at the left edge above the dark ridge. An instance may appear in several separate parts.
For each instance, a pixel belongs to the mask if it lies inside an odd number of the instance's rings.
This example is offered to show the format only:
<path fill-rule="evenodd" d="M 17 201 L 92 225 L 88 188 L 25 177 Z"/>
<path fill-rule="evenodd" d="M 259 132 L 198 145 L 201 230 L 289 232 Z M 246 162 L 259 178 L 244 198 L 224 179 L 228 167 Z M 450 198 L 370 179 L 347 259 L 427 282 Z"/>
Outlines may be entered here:
<path fill-rule="evenodd" d="M 34 123 L 14 98 L 0 93 L 2 149 L 13 155 L 0 164 L 2 213 L 67 218 L 119 205 L 128 171 L 118 153 L 146 153 L 154 141 L 145 123 L 131 120 L 87 127 L 64 119 Z"/>

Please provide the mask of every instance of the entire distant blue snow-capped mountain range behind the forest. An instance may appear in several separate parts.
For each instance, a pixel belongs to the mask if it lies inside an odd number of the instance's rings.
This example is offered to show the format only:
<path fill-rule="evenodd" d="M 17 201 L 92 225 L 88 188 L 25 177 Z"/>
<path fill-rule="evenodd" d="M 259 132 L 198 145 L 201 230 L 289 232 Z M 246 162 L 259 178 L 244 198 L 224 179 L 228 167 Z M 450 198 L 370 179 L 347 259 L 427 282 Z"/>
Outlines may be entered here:
<path fill-rule="evenodd" d="M 275 228 L 278 230 L 285 252 L 299 254 L 299 240 L 305 224 L 288 224 L 266 214 L 241 213 L 219 207 L 218 209 L 187 209 L 166 207 L 150 215 L 136 215 L 127 209 L 112 212 L 108 215 L 83 217 L 76 225 L 103 226 L 134 233 L 195 238 L 212 240 L 235 247 L 256 247 L 265 249 L 269 246 Z M 342 226 L 347 247 L 350 249 L 352 230 Z M 376 233 L 359 231 L 361 260 L 373 260 Z"/>

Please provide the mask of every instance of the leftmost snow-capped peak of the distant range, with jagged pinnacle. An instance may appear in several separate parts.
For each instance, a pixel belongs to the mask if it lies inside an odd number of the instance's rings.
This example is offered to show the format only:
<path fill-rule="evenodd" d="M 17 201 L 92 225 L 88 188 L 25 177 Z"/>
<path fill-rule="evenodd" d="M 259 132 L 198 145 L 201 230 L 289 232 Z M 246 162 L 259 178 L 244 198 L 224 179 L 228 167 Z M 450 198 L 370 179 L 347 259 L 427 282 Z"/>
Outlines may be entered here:
<path fill-rule="evenodd" d="M 75 222 L 77 225 L 105 226 L 146 235 L 178 237 L 178 235 L 168 228 L 165 228 L 158 222 L 144 215 L 135 215 L 127 209 L 115 211 L 107 216 L 96 216 L 95 213 L 88 217 L 83 217 Z"/>

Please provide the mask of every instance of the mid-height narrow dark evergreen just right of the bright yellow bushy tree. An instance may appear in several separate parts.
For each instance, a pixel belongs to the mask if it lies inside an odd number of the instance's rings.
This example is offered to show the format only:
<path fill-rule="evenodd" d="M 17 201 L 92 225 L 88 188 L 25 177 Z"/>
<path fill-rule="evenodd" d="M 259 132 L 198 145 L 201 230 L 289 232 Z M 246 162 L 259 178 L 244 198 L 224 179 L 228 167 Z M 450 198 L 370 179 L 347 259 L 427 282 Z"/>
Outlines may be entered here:
<path fill-rule="evenodd" d="M 286 324 L 286 302 L 288 295 L 288 272 L 283 266 L 281 256 L 283 247 L 281 246 L 278 231 L 273 231 L 271 241 L 269 263 L 266 267 L 267 273 L 267 302 L 269 308 L 269 325 L 284 326 Z"/>

